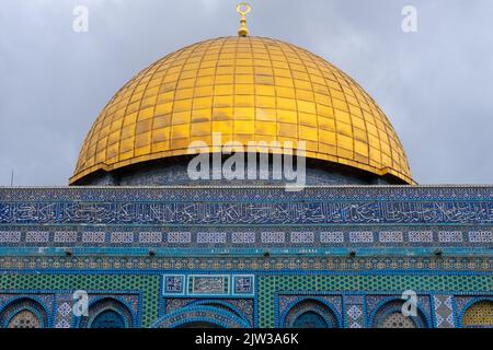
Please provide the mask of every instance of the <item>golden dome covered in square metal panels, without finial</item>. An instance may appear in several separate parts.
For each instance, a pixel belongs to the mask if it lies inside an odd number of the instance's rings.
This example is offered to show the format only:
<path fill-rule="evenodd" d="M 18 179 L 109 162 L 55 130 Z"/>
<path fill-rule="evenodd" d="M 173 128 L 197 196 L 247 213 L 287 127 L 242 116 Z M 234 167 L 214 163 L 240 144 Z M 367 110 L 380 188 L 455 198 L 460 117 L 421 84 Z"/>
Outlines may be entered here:
<path fill-rule="evenodd" d="M 187 154 L 214 132 L 222 142 L 306 141 L 307 158 L 414 184 L 391 124 L 353 79 L 294 45 L 248 36 L 194 44 L 134 77 L 89 131 L 70 183 Z"/>

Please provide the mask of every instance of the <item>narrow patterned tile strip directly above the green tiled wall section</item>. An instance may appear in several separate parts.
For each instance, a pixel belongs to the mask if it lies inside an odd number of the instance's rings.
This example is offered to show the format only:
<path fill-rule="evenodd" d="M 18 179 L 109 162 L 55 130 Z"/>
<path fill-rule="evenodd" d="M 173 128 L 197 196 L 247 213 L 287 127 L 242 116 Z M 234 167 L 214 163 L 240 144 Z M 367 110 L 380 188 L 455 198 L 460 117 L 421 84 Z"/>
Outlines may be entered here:
<path fill-rule="evenodd" d="M 114 248 L 115 249 L 115 248 Z M 113 250 L 114 252 L 114 250 Z M 183 270 L 183 269 L 205 269 L 209 271 L 231 271 L 231 270 L 275 270 L 275 271 L 299 271 L 310 269 L 311 271 L 403 271 L 403 270 L 443 270 L 443 271 L 484 271 L 493 270 L 493 257 L 405 257 L 405 256 L 280 256 L 266 259 L 261 256 L 251 257 L 193 257 L 190 249 L 185 249 L 183 255 L 175 257 L 154 256 L 152 259 L 146 256 L 136 255 L 129 248 L 122 250 L 122 255 L 127 256 L 71 256 L 54 258 L 49 256 L 0 256 L 0 268 L 7 270 L 70 270 L 87 269 L 92 271 L 112 269 L 146 269 L 146 270 Z M 141 254 L 141 250 L 138 252 Z"/>

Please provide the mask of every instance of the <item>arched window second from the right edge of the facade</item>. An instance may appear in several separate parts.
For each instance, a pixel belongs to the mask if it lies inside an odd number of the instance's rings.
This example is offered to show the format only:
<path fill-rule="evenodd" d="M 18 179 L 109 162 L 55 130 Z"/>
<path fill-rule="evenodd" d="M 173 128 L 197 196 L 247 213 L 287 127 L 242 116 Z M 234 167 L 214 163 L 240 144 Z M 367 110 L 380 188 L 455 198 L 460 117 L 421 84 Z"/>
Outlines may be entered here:
<path fill-rule="evenodd" d="M 427 328 L 426 317 L 420 310 L 416 316 L 404 316 L 402 305 L 404 301 L 390 301 L 375 314 L 372 328 Z"/>

